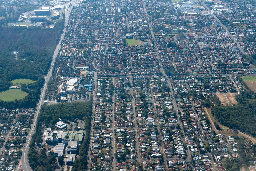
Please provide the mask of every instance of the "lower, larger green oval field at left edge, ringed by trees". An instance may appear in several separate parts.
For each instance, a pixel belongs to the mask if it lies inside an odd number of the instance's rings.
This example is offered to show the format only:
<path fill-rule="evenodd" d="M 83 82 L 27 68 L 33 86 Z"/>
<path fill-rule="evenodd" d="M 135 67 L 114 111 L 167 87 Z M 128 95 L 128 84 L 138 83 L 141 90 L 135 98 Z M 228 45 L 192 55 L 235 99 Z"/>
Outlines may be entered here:
<path fill-rule="evenodd" d="M 15 99 L 23 99 L 26 95 L 28 95 L 28 93 L 20 89 L 9 89 L 5 92 L 0 92 L 0 99 L 4 101 L 14 101 Z"/>

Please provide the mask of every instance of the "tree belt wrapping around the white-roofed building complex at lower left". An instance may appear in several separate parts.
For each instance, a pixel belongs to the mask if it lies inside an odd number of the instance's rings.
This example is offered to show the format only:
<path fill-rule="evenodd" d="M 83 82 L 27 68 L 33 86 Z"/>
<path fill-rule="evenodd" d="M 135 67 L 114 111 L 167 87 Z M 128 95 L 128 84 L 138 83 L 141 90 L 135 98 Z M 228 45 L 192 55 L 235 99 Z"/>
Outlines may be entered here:
<path fill-rule="evenodd" d="M 39 117 L 36 123 L 35 133 L 32 135 L 31 142 L 29 144 L 28 151 L 28 161 L 30 167 L 33 171 L 43 171 L 43 170 L 54 170 L 58 163 L 56 158 L 53 155 L 53 152 L 46 155 L 46 149 L 41 145 L 43 140 L 43 127 L 45 124 L 46 127 L 52 128 L 54 130 L 54 125 L 59 121 L 59 118 L 63 118 L 66 121 L 70 120 L 77 122 L 76 119 L 84 120 L 85 138 L 80 145 L 79 149 L 79 158 L 76 158 L 73 163 L 72 170 L 83 171 L 87 165 L 87 152 L 90 138 L 90 128 L 91 128 L 91 116 L 92 116 L 92 99 L 87 102 L 76 102 L 76 103 L 59 103 L 55 105 L 42 105 L 42 108 L 39 113 Z M 68 122 L 68 121 L 67 121 Z M 40 154 L 36 150 L 37 147 L 43 147 L 40 150 Z"/>

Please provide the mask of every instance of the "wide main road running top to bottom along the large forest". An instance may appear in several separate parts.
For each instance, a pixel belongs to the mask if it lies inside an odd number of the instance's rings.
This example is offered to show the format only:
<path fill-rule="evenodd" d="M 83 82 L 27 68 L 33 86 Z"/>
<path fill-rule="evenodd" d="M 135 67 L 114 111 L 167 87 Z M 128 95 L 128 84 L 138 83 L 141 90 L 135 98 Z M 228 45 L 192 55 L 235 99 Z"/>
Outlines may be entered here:
<path fill-rule="evenodd" d="M 74 2 L 75 2 L 75 1 L 73 0 L 73 1 L 71 1 L 68 5 L 72 5 Z M 68 5 L 67 5 L 67 6 L 68 6 Z M 65 20 L 65 27 L 64 27 L 63 33 L 62 33 L 62 35 L 61 35 L 61 37 L 60 37 L 60 41 L 59 41 L 59 43 L 58 43 L 58 45 L 56 46 L 56 49 L 55 49 L 55 51 L 54 51 L 54 55 L 53 55 L 53 58 L 52 58 L 53 60 L 51 61 L 51 67 L 50 67 L 50 69 L 49 69 L 49 72 L 48 72 L 47 75 L 45 76 L 44 88 L 43 88 L 42 91 L 41 91 L 40 102 L 39 102 L 38 105 L 37 105 L 37 108 L 36 108 L 37 111 L 36 111 L 36 113 L 35 113 L 35 117 L 34 117 L 34 121 L 33 121 L 33 125 L 34 125 L 34 126 L 32 126 L 31 129 L 30 129 L 30 131 L 29 131 L 29 134 L 28 134 L 28 136 L 27 136 L 26 144 L 25 144 L 25 146 L 24 146 L 24 148 L 23 148 L 23 151 L 22 151 L 22 156 L 21 156 L 21 164 L 22 164 L 22 166 L 21 166 L 21 167 L 17 167 L 17 168 L 16 168 L 16 171 L 18 171 L 19 169 L 23 169 L 23 170 L 25 170 L 25 171 L 32 171 L 31 167 L 29 166 L 29 163 L 28 163 L 28 156 L 27 156 L 28 150 L 29 150 L 29 143 L 30 143 L 30 140 L 31 140 L 31 136 L 32 136 L 32 134 L 33 134 L 34 131 L 35 131 L 35 124 L 36 124 L 36 121 L 37 121 L 38 113 L 39 113 L 39 111 L 40 111 L 40 109 L 41 109 L 41 105 L 44 104 L 44 99 L 43 99 L 43 98 L 44 98 L 45 91 L 46 91 L 46 88 L 47 88 L 47 83 L 48 83 L 50 77 L 52 76 L 52 69 L 53 69 L 53 65 L 54 65 L 54 62 L 55 62 L 55 58 L 57 57 L 58 52 L 59 52 L 59 49 L 60 49 L 60 47 L 61 47 L 61 41 L 62 41 L 62 39 L 63 39 L 64 36 L 65 36 L 66 26 L 67 26 L 67 24 L 68 24 L 68 18 L 69 18 L 69 15 L 70 15 L 70 13 L 71 13 L 72 8 L 73 8 L 73 6 L 71 6 L 71 7 L 65 9 L 65 19 L 66 19 L 66 20 Z M 20 162 L 20 161 L 19 161 L 19 162 Z"/>

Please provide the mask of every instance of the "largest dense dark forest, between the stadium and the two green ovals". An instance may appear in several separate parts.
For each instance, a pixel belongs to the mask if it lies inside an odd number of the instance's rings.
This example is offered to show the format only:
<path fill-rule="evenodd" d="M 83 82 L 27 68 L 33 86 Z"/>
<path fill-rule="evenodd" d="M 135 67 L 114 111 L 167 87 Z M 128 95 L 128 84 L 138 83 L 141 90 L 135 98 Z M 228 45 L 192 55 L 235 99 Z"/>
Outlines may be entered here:
<path fill-rule="evenodd" d="M 0 91 L 8 90 L 12 85 L 11 80 L 19 78 L 39 80 L 47 73 L 64 27 L 64 20 L 65 17 L 51 29 L 0 27 Z M 13 51 L 18 52 L 17 59 Z M 40 90 L 32 92 L 37 93 Z M 1 104 L 4 102 L 0 102 L 0 106 Z M 14 106 L 15 104 L 13 102 Z"/>

